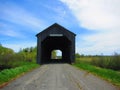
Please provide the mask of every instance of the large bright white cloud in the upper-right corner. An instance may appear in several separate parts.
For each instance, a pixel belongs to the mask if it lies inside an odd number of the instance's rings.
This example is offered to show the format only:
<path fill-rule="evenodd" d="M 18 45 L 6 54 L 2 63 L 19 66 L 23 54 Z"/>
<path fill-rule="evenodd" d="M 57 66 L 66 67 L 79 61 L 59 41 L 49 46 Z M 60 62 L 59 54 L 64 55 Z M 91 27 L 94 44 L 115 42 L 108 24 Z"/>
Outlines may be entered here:
<path fill-rule="evenodd" d="M 78 19 L 80 26 L 91 30 L 120 28 L 119 0 L 60 0 Z"/>

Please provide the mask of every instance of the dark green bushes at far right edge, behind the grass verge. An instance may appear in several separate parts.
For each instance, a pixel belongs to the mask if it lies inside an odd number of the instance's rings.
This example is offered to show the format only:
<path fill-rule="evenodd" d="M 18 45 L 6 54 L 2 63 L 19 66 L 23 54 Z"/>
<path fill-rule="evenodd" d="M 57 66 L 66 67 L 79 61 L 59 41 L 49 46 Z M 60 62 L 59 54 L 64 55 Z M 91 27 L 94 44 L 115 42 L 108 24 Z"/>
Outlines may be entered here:
<path fill-rule="evenodd" d="M 102 68 L 120 70 L 120 55 L 115 53 L 113 56 L 95 57 L 91 63 Z"/>

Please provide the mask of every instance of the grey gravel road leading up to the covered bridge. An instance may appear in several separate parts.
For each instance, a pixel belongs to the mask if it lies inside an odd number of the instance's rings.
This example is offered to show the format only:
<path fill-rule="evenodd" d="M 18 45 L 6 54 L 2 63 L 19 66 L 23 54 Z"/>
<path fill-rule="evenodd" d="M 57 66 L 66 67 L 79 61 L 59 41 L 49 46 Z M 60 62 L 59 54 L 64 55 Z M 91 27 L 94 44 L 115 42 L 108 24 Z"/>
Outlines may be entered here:
<path fill-rule="evenodd" d="M 69 64 L 46 64 L 0 90 L 118 90 L 112 84 Z"/>

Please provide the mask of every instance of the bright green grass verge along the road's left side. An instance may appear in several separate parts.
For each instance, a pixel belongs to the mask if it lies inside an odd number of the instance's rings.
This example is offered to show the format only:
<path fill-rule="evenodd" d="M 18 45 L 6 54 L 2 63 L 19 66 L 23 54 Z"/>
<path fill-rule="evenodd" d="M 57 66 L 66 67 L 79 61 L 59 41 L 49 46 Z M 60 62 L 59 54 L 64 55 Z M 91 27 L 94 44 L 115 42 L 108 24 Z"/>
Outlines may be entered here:
<path fill-rule="evenodd" d="M 33 68 L 38 67 L 38 64 L 29 63 L 20 67 L 12 68 L 12 69 L 5 69 L 0 72 L 0 85 L 12 80 L 13 78 L 17 77 L 20 74 L 28 72 Z"/>

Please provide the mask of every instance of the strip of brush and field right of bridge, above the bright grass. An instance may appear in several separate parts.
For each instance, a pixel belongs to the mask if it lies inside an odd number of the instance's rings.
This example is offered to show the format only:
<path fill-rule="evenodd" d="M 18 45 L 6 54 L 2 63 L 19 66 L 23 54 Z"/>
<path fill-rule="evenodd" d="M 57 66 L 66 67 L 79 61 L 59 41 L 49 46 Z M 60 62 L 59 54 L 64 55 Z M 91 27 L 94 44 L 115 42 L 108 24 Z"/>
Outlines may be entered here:
<path fill-rule="evenodd" d="M 85 62 L 107 69 L 120 70 L 120 55 L 117 53 L 114 53 L 112 56 L 76 56 L 76 63 L 79 62 Z"/>

